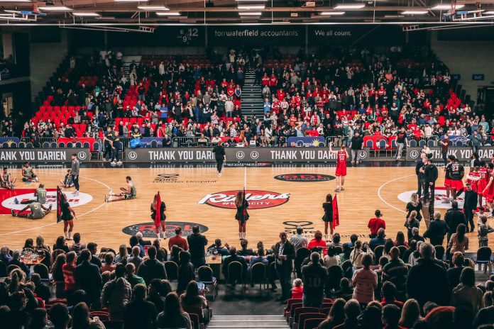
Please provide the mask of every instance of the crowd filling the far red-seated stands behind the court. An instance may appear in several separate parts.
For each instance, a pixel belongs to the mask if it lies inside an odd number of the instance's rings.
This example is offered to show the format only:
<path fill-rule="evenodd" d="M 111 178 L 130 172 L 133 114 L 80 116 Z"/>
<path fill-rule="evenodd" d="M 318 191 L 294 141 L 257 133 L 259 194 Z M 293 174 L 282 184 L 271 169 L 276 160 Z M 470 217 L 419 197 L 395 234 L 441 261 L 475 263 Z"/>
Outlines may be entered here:
<path fill-rule="evenodd" d="M 304 135 L 336 136 L 339 143 L 356 132 L 396 135 L 400 127 L 409 140 L 478 131 L 482 143 L 490 135 L 488 118 L 459 99 L 447 67 L 427 49 L 333 48 L 281 61 L 270 60 L 273 54 L 238 48 L 195 62 L 143 57 L 128 74 L 121 53 L 79 57 L 50 87 L 45 105 L 83 107 L 65 127 L 52 119 L 28 121 L 25 135 L 66 136 L 67 126 L 84 123 L 84 137 L 101 138 L 106 126 L 126 117 L 140 121 L 118 121 L 121 137 L 233 137 L 256 146 Z M 249 68 L 263 100 L 263 115 L 252 118 L 241 111 Z"/>

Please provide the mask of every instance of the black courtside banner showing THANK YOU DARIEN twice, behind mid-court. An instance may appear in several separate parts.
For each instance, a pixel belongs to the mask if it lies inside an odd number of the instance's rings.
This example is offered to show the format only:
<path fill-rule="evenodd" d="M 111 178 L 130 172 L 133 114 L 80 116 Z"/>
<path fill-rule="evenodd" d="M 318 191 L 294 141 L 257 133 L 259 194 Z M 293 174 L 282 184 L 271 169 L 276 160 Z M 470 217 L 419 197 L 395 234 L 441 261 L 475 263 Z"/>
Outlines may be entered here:
<path fill-rule="evenodd" d="M 211 148 L 183 147 L 136 149 L 126 151 L 127 162 L 215 162 Z M 226 147 L 228 162 L 336 162 L 328 149 L 295 147 Z M 362 161 L 369 160 L 369 150 L 360 151 Z M 350 159 L 348 159 L 350 161 Z"/>

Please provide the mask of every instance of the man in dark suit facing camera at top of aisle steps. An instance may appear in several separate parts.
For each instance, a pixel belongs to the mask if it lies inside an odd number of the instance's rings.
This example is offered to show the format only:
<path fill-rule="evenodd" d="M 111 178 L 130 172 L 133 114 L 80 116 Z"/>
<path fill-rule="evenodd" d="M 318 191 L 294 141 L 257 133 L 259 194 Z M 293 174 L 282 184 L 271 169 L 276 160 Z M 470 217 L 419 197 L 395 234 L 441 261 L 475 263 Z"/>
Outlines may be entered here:
<path fill-rule="evenodd" d="M 278 273 L 278 278 L 280 278 L 281 286 L 281 297 L 276 299 L 282 303 L 286 303 L 287 299 L 290 298 L 290 277 L 292 275 L 293 260 L 295 260 L 295 248 L 287 240 L 287 233 L 280 233 L 280 241 L 276 242 L 275 245 L 275 269 Z"/>

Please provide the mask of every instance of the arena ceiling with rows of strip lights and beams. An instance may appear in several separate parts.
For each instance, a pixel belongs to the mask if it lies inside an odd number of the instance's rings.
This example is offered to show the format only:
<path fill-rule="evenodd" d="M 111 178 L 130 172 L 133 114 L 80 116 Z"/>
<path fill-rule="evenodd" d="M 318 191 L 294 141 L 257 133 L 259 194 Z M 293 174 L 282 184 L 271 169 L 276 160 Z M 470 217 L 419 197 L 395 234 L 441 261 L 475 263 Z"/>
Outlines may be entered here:
<path fill-rule="evenodd" d="M 345 24 L 488 26 L 494 0 L 0 0 L 0 25 Z"/>

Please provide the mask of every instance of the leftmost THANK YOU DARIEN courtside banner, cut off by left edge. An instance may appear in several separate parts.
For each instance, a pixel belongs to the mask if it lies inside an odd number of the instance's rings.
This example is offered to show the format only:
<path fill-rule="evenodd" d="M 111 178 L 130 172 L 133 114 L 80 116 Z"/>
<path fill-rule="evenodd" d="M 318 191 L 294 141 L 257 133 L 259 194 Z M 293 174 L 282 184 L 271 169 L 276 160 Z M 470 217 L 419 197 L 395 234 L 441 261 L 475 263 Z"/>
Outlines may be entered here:
<path fill-rule="evenodd" d="M 0 162 L 23 163 L 67 163 L 72 162 L 72 154 L 77 154 L 79 162 L 89 162 L 91 153 L 87 148 L 0 148 Z"/>

